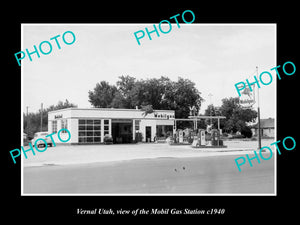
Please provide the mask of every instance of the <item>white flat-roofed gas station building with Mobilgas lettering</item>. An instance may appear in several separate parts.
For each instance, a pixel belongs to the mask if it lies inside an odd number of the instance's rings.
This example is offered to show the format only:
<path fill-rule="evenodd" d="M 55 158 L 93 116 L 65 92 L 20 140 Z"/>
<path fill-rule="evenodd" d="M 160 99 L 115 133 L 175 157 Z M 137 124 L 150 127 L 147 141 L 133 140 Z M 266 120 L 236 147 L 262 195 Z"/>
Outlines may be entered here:
<path fill-rule="evenodd" d="M 132 143 L 137 134 L 143 142 L 153 142 L 163 132 L 173 133 L 174 120 L 174 110 L 154 110 L 145 115 L 140 109 L 66 108 L 48 112 L 48 132 L 68 129 L 71 144 L 100 144 L 105 135 L 112 136 L 114 143 Z M 62 131 L 60 137 L 64 139 L 64 135 L 68 133 Z M 57 135 L 53 138 L 59 142 Z"/>

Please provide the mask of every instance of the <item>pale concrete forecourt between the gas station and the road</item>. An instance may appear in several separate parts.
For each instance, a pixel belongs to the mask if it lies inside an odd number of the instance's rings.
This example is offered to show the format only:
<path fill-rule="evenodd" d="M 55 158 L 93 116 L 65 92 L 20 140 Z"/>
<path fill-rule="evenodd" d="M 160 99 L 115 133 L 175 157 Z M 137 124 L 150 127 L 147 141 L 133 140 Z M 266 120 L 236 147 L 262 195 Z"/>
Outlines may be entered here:
<path fill-rule="evenodd" d="M 269 145 L 272 140 L 266 140 L 262 146 Z M 113 162 L 131 159 L 152 159 L 162 157 L 186 158 L 207 157 L 217 155 L 239 155 L 252 153 L 257 148 L 255 141 L 228 141 L 227 148 L 200 149 L 189 145 L 171 146 L 166 143 L 139 143 L 115 145 L 57 145 L 48 147 L 45 152 L 33 155 L 27 152 L 27 159 L 22 157 L 24 167 L 43 165 L 68 165 L 95 162 Z M 28 147 L 28 146 L 27 146 Z M 26 147 L 25 147 L 26 149 Z"/>

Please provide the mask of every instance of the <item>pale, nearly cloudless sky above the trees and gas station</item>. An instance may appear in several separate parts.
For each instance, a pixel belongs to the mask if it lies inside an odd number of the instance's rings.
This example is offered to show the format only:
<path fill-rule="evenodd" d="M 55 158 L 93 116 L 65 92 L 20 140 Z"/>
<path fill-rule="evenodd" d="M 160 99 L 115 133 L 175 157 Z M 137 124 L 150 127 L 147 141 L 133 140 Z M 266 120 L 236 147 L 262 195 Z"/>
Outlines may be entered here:
<path fill-rule="evenodd" d="M 159 22 L 154 22 L 158 27 Z M 58 101 L 91 108 L 88 91 L 96 83 L 116 84 L 119 76 L 137 79 L 167 76 L 176 81 L 183 77 L 193 81 L 207 105 L 221 106 L 223 98 L 238 97 L 235 84 L 254 81 L 258 74 L 273 75 L 270 85 L 259 89 L 261 118 L 276 116 L 275 24 L 184 24 L 172 23 L 168 34 L 147 34 L 138 45 L 134 33 L 153 24 L 22 24 L 21 50 L 34 51 L 43 41 L 52 44 L 48 55 L 32 54 L 22 60 L 22 108 L 37 112 L 41 103 L 47 108 Z M 163 30 L 168 30 L 162 26 Z M 76 40 L 66 45 L 62 35 L 72 31 Z M 60 35 L 57 40 L 50 38 Z M 72 40 L 66 35 L 66 40 Z M 47 45 L 43 45 L 47 51 Z M 265 78 L 267 80 L 268 78 Z M 212 95 L 209 97 L 209 95 Z M 257 108 L 257 103 L 254 105 Z"/>

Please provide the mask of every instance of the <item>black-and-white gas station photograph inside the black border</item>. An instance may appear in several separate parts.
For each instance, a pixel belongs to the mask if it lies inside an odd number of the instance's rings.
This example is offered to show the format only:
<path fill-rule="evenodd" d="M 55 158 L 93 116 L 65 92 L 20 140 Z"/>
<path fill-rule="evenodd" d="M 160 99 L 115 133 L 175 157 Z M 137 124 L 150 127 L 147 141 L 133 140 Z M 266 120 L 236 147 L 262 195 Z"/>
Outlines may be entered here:
<path fill-rule="evenodd" d="M 276 24 L 22 24 L 22 49 L 23 195 L 276 194 Z"/>

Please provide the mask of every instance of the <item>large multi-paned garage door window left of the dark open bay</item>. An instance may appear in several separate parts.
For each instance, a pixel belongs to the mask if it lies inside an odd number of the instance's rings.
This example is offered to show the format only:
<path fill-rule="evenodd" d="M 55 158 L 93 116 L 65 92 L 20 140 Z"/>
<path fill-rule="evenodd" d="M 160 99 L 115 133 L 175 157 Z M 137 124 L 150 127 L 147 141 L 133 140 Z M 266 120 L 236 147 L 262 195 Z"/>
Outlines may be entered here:
<path fill-rule="evenodd" d="M 101 120 L 79 120 L 78 141 L 79 143 L 101 142 Z"/>

